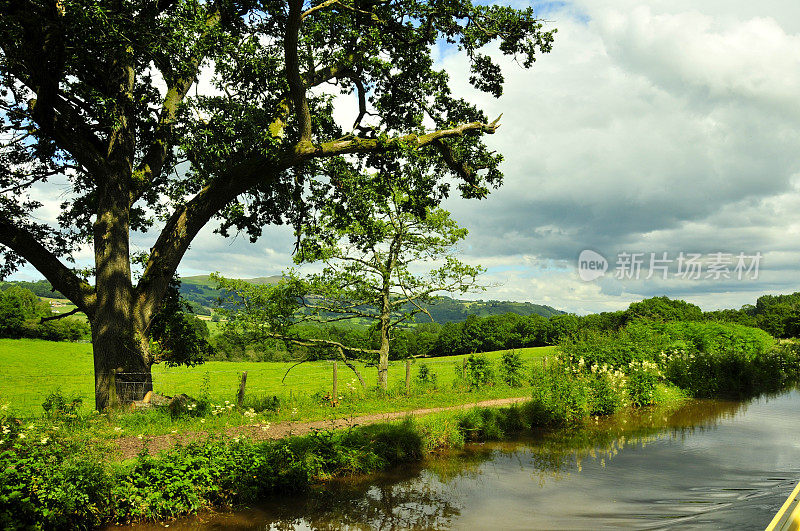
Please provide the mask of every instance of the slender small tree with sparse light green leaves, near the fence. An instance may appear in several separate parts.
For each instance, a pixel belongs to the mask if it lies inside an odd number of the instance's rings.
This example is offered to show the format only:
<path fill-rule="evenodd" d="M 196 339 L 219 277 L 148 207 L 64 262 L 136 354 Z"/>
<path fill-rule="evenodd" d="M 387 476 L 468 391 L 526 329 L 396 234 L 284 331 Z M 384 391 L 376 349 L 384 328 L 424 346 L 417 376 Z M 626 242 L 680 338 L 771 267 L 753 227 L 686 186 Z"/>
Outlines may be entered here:
<path fill-rule="evenodd" d="M 252 332 L 263 331 L 269 323 L 267 335 L 296 343 L 302 341 L 286 330 L 299 322 L 370 323 L 378 335 L 377 348 L 316 341 L 377 357 L 378 385 L 385 389 L 394 329 L 419 313 L 430 317 L 426 305 L 438 292 L 480 289 L 476 278 L 483 269 L 454 255 L 467 230 L 446 210 L 415 204 L 414 195 L 403 191 L 397 179 L 389 182 L 381 175 L 341 179 L 334 188 L 335 193 L 320 203 L 318 223 L 298 233 L 295 261 L 321 264 L 321 272 L 300 276 L 290 271 L 274 287 L 243 286 L 218 277 L 220 287 L 246 300 L 243 313 L 235 318 L 239 324 Z M 264 304 L 261 297 L 261 304 L 254 304 L 254 292 L 269 293 L 271 302 Z"/>

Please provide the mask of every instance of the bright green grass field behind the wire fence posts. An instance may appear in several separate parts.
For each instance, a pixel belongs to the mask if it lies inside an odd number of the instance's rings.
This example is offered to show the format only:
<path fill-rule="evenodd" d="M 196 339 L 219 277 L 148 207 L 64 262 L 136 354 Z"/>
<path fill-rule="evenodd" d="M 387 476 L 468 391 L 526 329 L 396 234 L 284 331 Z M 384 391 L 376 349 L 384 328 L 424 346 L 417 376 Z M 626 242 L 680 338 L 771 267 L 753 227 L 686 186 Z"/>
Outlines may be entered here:
<path fill-rule="evenodd" d="M 554 354 L 554 347 L 519 349 L 526 363 L 539 362 Z M 497 361 L 502 352 L 487 356 Z M 456 376 L 465 356 L 447 356 L 417 360 L 412 366 L 425 363 L 437 375 L 440 387 L 448 387 Z M 186 393 L 198 396 L 203 382 L 208 379 L 208 393 L 213 400 L 232 400 L 238 389 L 239 377 L 247 371 L 249 395 L 268 394 L 279 397 L 309 396 L 316 392 L 331 391 L 333 366 L 331 362 L 318 361 L 298 365 L 284 382 L 289 362 L 221 362 L 210 361 L 198 367 L 153 368 L 154 388 L 166 395 Z M 376 385 L 377 370 L 357 364 L 367 385 Z M 343 363 L 338 364 L 339 393 L 348 392 L 349 385 L 358 387 L 355 375 Z M 65 395 L 77 394 L 87 406 L 94 402 L 92 346 L 88 343 L 51 342 L 30 339 L 0 339 L 0 402 L 25 415 L 42 412 L 41 404 L 48 393 L 60 389 Z M 403 385 L 404 362 L 393 362 L 389 367 L 389 387 Z"/>

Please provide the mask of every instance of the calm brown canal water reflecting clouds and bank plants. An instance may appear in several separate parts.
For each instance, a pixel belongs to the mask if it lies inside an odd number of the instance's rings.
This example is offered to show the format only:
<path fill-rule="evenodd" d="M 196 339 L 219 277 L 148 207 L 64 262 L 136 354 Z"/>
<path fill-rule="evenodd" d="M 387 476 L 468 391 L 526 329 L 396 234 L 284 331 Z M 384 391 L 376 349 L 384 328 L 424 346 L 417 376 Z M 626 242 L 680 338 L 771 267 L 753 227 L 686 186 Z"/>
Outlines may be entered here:
<path fill-rule="evenodd" d="M 171 529 L 763 529 L 800 481 L 800 393 L 469 445 Z M 145 527 L 142 527 L 145 529 Z"/>

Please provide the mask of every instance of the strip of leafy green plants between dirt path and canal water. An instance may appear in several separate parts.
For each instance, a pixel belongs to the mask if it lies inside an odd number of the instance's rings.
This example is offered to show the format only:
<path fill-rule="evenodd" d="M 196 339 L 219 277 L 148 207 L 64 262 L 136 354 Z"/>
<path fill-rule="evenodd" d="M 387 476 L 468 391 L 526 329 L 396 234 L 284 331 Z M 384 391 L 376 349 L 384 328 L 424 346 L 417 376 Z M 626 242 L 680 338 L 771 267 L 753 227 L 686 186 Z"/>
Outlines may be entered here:
<path fill-rule="evenodd" d="M 253 503 L 417 461 L 468 440 L 559 425 L 549 407 L 532 401 L 261 443 L 211 437 L 118 464 L 50 433 L 46 444 L 0 452 L 0 526 L 91 528 Z"/>

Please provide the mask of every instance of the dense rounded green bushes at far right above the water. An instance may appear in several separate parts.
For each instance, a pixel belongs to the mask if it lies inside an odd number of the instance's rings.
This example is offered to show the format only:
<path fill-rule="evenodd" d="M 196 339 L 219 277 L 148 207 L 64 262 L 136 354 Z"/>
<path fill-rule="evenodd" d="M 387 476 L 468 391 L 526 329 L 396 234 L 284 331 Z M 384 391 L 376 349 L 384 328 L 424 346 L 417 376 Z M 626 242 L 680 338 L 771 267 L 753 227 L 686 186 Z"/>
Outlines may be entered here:
<path fill-rule="evenodd" d="M 565 340 L 563 363 L 580 374 L 618 372 L 632 403 L 646 405 L 657 382 L 695 397 L 751 396 L 800 374 L 798 348 L 733 323 L 636 321 L 616 332 Z"/>

